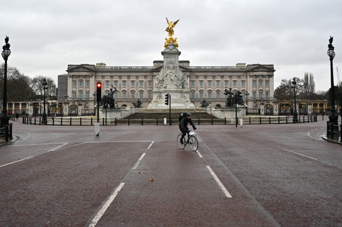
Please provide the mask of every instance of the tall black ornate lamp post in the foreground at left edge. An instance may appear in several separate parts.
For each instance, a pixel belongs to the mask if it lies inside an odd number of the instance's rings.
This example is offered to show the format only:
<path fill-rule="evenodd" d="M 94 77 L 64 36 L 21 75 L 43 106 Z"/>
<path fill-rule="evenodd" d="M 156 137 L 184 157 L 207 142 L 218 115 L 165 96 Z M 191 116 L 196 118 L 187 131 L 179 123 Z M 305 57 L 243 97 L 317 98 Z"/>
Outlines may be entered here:
<path fill-rule="evenodd" d="M 11 50 L 9 49 L 10 45 L 8 44 L 9 38 L 6 36 L 5 45 L 2 46 L 1 56 L 3 60 L 5 60 L 5 68 L 4 68 L 4 77 L 3 77 L 3 100 L 2 100 L 2 113 L 0 115 L 0 128 L 4 128 L 8 125 L 9 116 L 7 114 L 7 59 L 11 54 Z"/>

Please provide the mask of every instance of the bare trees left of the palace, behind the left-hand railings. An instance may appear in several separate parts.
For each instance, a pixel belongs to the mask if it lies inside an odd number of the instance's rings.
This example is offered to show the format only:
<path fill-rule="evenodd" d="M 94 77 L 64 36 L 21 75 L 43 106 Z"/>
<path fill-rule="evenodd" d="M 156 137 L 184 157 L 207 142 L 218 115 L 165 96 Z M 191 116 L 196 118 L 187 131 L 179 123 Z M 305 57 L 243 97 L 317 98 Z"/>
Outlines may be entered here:
<path fill-rule="evenodd" d="M 3 99 L 3 78 L 4 63 L 0 65 L 0 100 Z M 51 77 L 42 75 L 30 78 L 21 73 L 16 67 L 7 66 L 7 101 L 31 101 L 43 100 L 44 79 L 48 82 L 48 89 L 45 91 L 46 98 L 56 99 L 56 83 Z"/>

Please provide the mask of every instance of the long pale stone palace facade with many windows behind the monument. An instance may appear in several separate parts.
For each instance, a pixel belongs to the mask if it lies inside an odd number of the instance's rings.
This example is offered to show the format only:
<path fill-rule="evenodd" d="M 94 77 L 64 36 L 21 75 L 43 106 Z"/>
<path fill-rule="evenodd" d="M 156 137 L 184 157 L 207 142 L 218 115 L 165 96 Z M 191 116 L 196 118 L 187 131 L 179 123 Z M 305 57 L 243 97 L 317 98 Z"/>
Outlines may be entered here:
<path fill-rule="evenodd" d="M 67 74 L 58 76 L 57 99 L 67 99 L 74 106 L 81 104 L 84 111 L 92 112 L 96 83 L 101 82 L 101 96 L 109 94 L 112 86 L 117 89 L 115 105 L 133 106 L 140 99 L 145 108 L 153 98 L 155 77 L 162 66 L 162 60 L 154 61 L 153 66 L 68 65 Z M 188 78 L 189 98 L 196 108 L 204 98 L 211 107 L 225 106 L 224 92 L 230 88 L 241 91 L 249 112 L 258 109 L 260 103 L 272 104 L 274 100 L 274 65 L 190 66 L 190 61 L 179 60 L 179 68 Z"/>

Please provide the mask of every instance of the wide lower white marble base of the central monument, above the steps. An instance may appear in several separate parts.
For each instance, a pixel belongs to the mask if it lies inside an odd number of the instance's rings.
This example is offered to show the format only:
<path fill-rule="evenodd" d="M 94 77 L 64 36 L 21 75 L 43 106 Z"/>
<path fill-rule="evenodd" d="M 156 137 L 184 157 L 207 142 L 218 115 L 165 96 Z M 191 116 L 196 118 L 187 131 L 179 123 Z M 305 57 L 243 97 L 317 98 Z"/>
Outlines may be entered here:
<path fill-rule="evenodd" d="M 185 90 L 165 90 L 165 91 L 153 91 L 153 100 L 147 106 L 147 109 L 169 109 L 168 105 L 165 105 L 165 95 L 171 95 L 171 109 L 188 109 L 195 110 L 194 104 L 189 99 L 189 92 Z"/>

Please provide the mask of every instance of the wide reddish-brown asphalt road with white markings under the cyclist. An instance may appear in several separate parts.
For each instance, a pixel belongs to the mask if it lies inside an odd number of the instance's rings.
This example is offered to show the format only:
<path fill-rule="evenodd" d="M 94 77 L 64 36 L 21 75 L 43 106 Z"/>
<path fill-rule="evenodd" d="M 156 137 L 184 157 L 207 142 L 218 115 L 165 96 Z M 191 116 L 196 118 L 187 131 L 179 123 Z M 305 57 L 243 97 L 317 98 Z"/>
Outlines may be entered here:
<path fill-rule="evenodd" d="M 342 226 L 342 146 L 325 124 L 200 125 L 194 152 L 178 126 L 14 122 L 1 226 Z"/>

